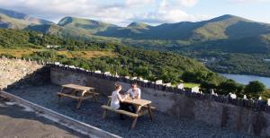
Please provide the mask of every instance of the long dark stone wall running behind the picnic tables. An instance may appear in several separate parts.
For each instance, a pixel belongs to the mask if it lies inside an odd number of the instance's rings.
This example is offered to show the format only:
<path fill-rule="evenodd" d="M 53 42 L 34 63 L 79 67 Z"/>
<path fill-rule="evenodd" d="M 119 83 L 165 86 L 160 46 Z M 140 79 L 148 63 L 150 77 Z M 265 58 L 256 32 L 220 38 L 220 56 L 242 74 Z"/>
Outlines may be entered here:
<path fill-rule="evenodd" d="M 123 90 L 130 87 L 130 79 L 112 77 L 70 68 L 64 65 L 50 65 L 50 80 L 56 84 L 76 83 L 92 86 L 97 92 L 110 95 L 115 82 Z M 181 91 L 176 88 L 140 82 L 142 99 L 149 99 L 158 111 L 171 116 L 187 117 L 210 125 L 228 127 L 239 132 L 270 136 L 270 112 L 266 101 L 229 99 L 222 96 Z"/>

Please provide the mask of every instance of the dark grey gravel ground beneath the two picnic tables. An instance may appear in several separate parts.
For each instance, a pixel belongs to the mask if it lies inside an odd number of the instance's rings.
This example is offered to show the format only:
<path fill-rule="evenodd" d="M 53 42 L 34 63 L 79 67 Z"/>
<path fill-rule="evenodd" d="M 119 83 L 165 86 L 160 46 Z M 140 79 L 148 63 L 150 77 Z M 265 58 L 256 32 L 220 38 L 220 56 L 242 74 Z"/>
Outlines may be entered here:
<path fill-rule="evenodd" d="M 108 116 L 102 119 L 101 105 L 107 102 L 105 97 L 98 98 L 100 103 L 85 100 L 82 107 L 76 109 L 77 102 L 74 99 L 64 98 L 58 104 L 56 95 L 58 91 L 60 87 L 53 84 L 22 90 L 8 90 L 23 99 L 123 137 L 253 137 L 190 119 L 166 116 L 157 111 L 154 111 L 153 121 L 149 120 L 148 115 L 140 116 L 136 128 L 130 130 L 132 120 L 128 117 L 120 120 L 119 115 L 109 112 Z"/>

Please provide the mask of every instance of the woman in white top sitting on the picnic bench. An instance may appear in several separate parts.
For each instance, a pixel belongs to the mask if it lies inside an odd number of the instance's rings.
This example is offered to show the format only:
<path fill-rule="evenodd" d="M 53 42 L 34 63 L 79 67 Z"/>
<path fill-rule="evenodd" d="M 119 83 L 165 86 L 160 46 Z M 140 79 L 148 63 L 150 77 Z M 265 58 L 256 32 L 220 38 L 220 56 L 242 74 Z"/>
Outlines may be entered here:
<path fill-rule="evenodd" d="M 124 104 L 123 101 L 127 99 L 129 95 L 121 95 L 119 93 L 120 91 L 121 91 L 121 85 L 116 83 L 115 91 L 112 91 L 111 108 L 128 110 L 129 107 L 127 107 L 127 105 Z M 120 118 L 123 119 L 123 116 L 120 115 Z"/>

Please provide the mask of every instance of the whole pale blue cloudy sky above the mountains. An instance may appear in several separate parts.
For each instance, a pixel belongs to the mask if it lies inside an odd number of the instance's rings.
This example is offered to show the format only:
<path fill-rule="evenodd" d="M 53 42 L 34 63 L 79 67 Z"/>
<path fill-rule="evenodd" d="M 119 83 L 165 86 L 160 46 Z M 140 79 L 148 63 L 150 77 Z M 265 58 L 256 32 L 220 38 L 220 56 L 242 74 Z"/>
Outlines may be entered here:
<path fill-rule="evenodd" d="M 75 16 L 126 26 L 198 22 L 233 14 L 270 23 L 270 0 L 0 0 L 0 8 L 58 22 Z"/>

